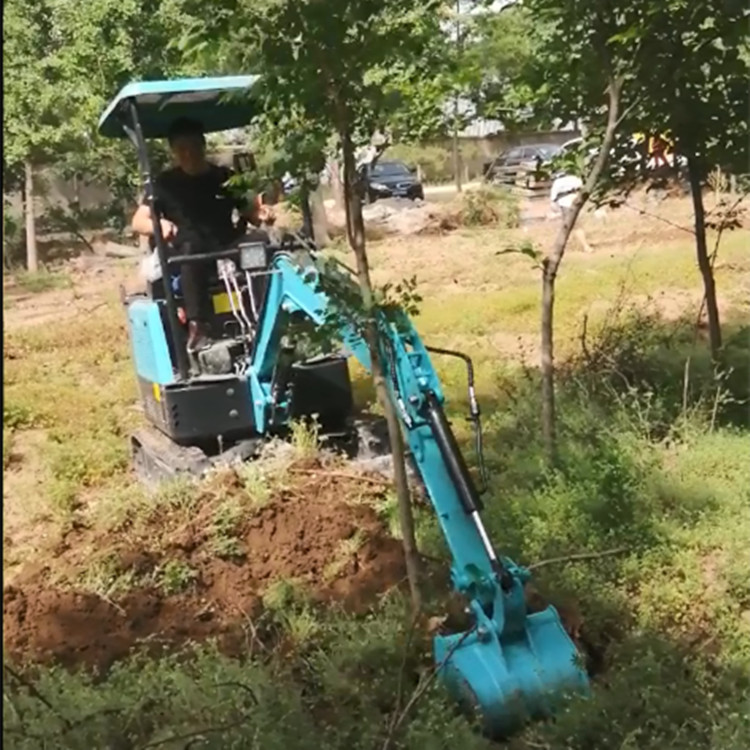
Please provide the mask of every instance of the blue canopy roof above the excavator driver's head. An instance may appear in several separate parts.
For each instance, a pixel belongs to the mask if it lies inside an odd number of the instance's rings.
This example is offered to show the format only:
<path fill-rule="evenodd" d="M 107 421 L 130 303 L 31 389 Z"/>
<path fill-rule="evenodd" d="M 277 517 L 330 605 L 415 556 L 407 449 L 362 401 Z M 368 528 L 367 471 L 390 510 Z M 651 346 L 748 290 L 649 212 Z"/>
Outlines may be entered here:
<path fill-rule="evenodd" d="M 99 118 L 99 132 L 108 138 L 123 138 L 121 117 L 133 99 L 145 138 L 164 138 L 170 124 L 189 117 L 203 124 L 206 133 L 247 125 L 257 114 L 250 94 L 260 76 L 176 78 L 171 81 L 129 83 L 115 96 Z M 129 118 L 125 119 L 129 122 Z"/>

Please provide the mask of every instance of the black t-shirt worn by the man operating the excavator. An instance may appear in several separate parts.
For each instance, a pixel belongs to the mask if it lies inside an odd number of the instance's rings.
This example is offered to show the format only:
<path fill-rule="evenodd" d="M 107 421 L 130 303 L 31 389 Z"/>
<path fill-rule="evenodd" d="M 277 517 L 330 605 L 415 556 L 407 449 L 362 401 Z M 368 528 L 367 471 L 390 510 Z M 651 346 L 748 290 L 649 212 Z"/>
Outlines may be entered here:
<path fill-rule="evenodd" d="M 157 209 L 177 226 L 174 244 L 181 252 L 221 250 L 240 233 L 232 222 L 232 212 L 244 210 L 247 202 L 225 184 L 233 175 L 228 167 L 210 164 L 198 175 L 173 167 L 156 178 Z M 183 247 L 186 243 L 191 247 Z"/>

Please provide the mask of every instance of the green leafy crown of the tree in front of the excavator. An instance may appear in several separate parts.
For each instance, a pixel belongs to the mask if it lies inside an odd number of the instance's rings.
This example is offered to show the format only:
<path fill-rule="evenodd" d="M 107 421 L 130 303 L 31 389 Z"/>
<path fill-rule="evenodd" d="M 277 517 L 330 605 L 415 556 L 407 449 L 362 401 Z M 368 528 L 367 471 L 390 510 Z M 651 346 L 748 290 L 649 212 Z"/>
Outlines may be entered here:
<path fill-rule="evenodd" d="M 440 6 L 349 2 L 331 13 L 316 0 L 224 0 L 210 18 L 196 12 L 181 46 L 203 64 L 218 58 L 220 66 L 231 61 L 234 69 L 261 73 L 253 128 L 261 151 L 274 152 L 277 176 L 317 174 L 344 121 L 361 144 L 378 132 L 417 140 L 439 130 Z M 248 39 L 244 29 L 251 28 Z"/>

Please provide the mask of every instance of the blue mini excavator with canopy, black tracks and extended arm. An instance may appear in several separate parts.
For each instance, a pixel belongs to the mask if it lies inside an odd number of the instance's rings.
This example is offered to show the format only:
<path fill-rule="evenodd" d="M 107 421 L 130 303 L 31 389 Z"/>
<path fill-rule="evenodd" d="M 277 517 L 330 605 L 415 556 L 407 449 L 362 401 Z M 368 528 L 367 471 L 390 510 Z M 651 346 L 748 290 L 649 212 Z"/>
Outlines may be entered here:
<path fill-rule="evenodd" d="M 354 327 L 341 323 L 340 353 L 306 357 L 290 343 L 295 322 L 329 324 L 335 282 L 356 292 L 343 266 L 332 268 L 310 239 L 310 227 L 272 242 L 248 234 L 210 254 L 175 255 L 160 233 L 147 139 L 167 134 L 176 118 L 199 120 L 205 132 L 247 125 L 255 76 L 136 82 L 102 114 L 100 132 L 129 138 L 137 149 L 155 227 L 161 278 L 123 297 L 148 427 L 132 438 L 134 463 L 146 480 L 200 475 L 218 461 L 253 460 L 270 437 L 315 415 L 323 435 L 352 453 L 373 439 L 354 417 L 349 357 L 370 368 L 370 352 Z M 306 212 L 309 215 L 309 212 Z M 211 279 L 211 346 L 189 361 L 180 315 L 181 264 L 216 264 Z M 434 638 L 443 684 L 478 717 L 490 736 L 507 736 L 529 720 L 549 717 L 589 682 L 576 647 L 552 606 L 530 612 L 529 571 L 499 555 L 482 523 L 482 502 L 444 411 L 445 397 L 430 350 L 403 311 L 378 314 L 379 347 L 389 396 L 412 467 L 434 508 L 452 557 L 451 581 L 467 602 L 469 627 Z M 471 413 L 479 409 L 469 366 Z M 478 430 L 481 435 L 481 430 Z M 353 448 L 352 448 L 353 446 Z M 480 440 L 481 455 L 481 440 Z"/>

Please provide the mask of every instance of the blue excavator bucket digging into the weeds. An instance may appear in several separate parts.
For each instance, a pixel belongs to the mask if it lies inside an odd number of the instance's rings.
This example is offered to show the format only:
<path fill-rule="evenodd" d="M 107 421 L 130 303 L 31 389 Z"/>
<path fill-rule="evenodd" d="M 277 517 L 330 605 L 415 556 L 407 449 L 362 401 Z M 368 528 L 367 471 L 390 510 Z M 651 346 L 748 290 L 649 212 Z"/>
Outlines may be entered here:
<path fill-rule="evenodd" d="M 566 695 L 588 692 L 580 657 L 551 606 L 501 633 L 480 614 L 471 630 L 437 636 L 434 656 L 449 693 L 495 738 L 550 716 Z"/>

